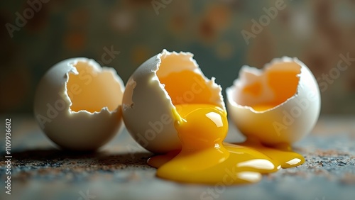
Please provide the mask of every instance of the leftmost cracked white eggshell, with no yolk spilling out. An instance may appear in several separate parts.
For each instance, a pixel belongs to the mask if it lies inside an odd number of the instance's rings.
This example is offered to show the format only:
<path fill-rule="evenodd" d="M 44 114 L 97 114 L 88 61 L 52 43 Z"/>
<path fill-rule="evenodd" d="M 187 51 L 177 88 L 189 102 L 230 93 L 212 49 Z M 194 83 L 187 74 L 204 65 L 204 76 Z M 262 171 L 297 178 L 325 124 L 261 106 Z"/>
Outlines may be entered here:
<path fill-rule="evenodd" d="M 84 57 L 63 60 L 38 84 L 35 119 L 60 148 L 96 150 L 121 127 L 123 92 L 113 68 Z"/>

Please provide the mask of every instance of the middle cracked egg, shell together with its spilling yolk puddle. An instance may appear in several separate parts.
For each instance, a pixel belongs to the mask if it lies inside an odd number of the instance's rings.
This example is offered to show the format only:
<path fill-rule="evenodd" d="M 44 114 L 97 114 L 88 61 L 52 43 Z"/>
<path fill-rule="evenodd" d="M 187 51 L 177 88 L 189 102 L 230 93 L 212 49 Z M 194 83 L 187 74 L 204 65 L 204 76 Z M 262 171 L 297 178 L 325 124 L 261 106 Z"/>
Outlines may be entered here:
<path fill-rule="evenodd" d="M 201 184 L 251 183 L 262 174 L 304 162 L 290 143 L 279 144 L 275 138 L 277 146 L 264 145 L 258 138 L 263 127 L 258 134 L 246 134 L 245 143 L 224 143 L 228 121 L 222 89 L 214 78 L 204 77 L 192 56 L 163 50 L 138 67 L 126 84 L 124 123 L 143 148 L 159 154 L 148 160 L 148 165 L 158 168 L 158 177 Z M 297 78 L 301 68 L 288 70 L 295 71 Z M 263 106 L 260 103 L 257 109 Z M 273 135 L 268 136 L 273 141 Z"/>

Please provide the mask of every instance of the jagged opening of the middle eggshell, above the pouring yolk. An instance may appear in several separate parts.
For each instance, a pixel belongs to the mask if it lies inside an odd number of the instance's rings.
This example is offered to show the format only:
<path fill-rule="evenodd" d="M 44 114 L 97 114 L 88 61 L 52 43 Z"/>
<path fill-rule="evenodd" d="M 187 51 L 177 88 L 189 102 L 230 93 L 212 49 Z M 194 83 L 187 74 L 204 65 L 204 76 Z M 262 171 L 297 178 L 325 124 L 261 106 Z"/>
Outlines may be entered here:
<path fill-rule="evenodd" d="M 222 88 L 204 76 L 190 52 L 163 52 L 155 71 L 173 105 L 212 104 L 225 109 Z"/>

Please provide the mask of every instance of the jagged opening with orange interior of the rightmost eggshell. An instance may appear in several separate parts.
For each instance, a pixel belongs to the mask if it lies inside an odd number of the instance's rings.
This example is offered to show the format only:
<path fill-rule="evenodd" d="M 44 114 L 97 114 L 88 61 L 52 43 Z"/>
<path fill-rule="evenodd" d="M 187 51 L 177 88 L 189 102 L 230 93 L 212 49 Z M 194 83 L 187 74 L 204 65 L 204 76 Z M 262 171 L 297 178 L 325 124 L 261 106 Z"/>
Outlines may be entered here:
<path fill-rule="evenodd" d="M 297 95 L 301 66 L 293 60 L 278 61 L 273 60 L 263 70 L 244 65 L 229 92 L 231 103 L 265 112 Z"/>

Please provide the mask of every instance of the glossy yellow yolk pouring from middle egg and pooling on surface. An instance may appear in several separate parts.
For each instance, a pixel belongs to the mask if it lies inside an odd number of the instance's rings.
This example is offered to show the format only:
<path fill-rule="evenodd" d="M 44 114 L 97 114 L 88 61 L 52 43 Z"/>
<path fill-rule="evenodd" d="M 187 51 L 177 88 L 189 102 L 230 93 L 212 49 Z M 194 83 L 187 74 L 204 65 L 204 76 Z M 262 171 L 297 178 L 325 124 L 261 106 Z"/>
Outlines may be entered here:
<path fill-rule="evenodd" d="M 254 109 L 262 111 L 272 107 L 260 105 Z M 262 174 L 276 172 L 280 167 L 295 167 L 305 161 L 287 144 L 266 147 L 257 138 L 247 138 L 239 144 L 224 143 L 228 121 L 226 111 L 219 106 L 192 102 L 175 105 L 175 108 L 175 128 L 182 149 L 148 160 L 148 165 L 158 168 L 160 178 L 200 184 L 253 183 L 258 182 Z"/>

